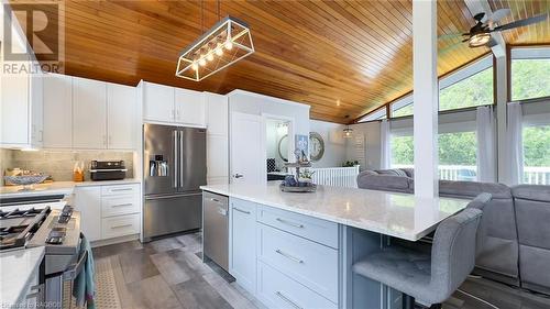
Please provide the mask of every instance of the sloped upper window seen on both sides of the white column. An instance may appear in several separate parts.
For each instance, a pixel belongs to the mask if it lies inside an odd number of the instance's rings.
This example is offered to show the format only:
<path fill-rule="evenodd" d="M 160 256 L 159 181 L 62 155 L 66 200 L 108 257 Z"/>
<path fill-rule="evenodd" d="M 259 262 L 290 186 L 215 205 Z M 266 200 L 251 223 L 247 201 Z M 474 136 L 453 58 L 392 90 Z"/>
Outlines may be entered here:
<path fill-rule="evenodd" d="M 493 57 L 482 58 L 439 81 L 439 110 L 493 104 Z M 413 95 L 392 103 L 392 118 L 413 114 Z"/>

